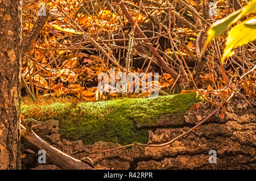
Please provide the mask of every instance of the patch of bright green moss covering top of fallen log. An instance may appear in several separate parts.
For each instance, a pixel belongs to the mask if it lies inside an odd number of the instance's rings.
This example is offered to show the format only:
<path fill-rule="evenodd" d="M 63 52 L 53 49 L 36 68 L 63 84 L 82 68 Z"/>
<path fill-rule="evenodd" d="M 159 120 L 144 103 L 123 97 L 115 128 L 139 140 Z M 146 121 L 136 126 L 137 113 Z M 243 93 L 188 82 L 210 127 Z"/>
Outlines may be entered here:
<path fill-rule="evenodd" d="M 59 120 L 60 135 L 68 140 L 82 140 L 84 144 L 96 141 L 146 143 L 146 128 L 156 127 L 161 115 L 168 114 L 174 124 L 182 124 L 185 111 L 200 102 L 195 92 L 151 99 L 117 99 L 105 102 L 80 102 L 69 98 L 22 100 L 21 112 L 25 118 L 42 121 Z"/>

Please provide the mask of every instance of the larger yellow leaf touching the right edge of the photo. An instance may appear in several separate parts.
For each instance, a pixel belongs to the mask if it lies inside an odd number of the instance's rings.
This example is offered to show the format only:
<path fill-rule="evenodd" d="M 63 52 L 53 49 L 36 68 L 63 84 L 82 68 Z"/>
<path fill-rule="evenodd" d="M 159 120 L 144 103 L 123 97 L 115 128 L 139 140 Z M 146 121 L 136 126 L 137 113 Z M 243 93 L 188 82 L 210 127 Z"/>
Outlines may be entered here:
<path fill-rule="evenodd" d="M 226 46 L 222 55 L 222 63 L 234 54 L 234 49 L 250 41 L 256 40 L 256 16 L 233 27 L 226 38 Z"/>

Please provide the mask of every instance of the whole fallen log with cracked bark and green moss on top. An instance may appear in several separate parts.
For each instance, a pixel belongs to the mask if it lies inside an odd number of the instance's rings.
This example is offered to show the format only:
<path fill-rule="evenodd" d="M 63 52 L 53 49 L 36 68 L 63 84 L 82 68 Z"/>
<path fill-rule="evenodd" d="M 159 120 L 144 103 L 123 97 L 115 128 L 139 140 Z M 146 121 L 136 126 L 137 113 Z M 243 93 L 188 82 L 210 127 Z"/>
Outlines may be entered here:
<path fill-rule="evenodd" d="M 22 113 L 25 118 L 48 120 L 35 127 L 35 132 L 74 158 L 91 158 L 95 169 L 255 169 L 256 102 L 247 101 L 252 107 L 242 98 L 233 98 L 225 106 L 225 114 L 217 112 L 171 145 L 134 145 L 106 152 L 101 150 L 131 142 L 168 142 L 216 107 L 189 93 L 95 103 L 66 98 L 33 103 L 24 99 Z M 193 105 L 197 102 L 201 103 L 196 108 Z M 209 162 L 210 150 L 217 153 L 216 163 Z"/>

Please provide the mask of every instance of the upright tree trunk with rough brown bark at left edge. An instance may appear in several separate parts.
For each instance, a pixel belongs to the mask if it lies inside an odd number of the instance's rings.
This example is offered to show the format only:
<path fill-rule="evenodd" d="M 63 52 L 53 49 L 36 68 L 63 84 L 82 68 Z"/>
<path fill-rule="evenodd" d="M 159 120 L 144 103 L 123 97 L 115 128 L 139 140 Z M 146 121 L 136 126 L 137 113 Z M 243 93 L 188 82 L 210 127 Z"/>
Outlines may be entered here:
<path fill-rule="evenodd" d="M 22 1 L 0 1 L 0 169 L 19 169 Z"/>

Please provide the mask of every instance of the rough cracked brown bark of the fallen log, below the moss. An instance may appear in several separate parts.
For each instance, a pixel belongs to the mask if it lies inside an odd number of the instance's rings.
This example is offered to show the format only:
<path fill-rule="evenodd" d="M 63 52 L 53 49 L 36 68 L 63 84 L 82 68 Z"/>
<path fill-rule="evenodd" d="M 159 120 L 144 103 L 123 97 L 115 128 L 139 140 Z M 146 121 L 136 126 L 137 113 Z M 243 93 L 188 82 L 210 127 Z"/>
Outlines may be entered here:
<path fill-rule="evenodd" d="M 91 158 L 95 169 L 255 169 L 256 102 L 249 102 L 253 107 L 241 98 L 234 98 L 226 107 L 224 119 L 219 112 L 174 144 L 157 148 L 133 146 L 93 153 L 120 145 L 103 141 L 84 145 L 81 140 L 61 140 L 56 120 L 35 126 L 34 131 L 75 158 Z M 148 128 L 148 144 L 162 144 L 188 131 L 214 110 L 211 107 L 205 102 L 197 110 L 188 111 L 183 125 L 168 124 L 168 127 L 157 128 L 155 132 Z M 209 163 L 209 150 L 217 151 L 216 164 Z M 36 169 L 42 169 L 42 166 Z"/>

